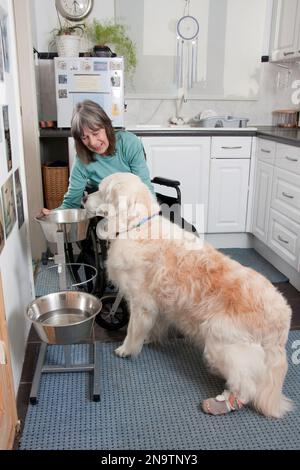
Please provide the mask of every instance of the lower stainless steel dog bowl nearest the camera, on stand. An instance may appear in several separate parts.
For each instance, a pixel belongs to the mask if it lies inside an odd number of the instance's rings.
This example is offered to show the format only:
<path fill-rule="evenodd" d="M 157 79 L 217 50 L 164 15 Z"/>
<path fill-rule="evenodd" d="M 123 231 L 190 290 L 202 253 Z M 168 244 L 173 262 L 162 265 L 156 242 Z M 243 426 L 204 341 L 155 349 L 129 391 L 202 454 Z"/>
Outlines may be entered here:
<path fill-rule="evenodd" d="M 91 294 L 63 291 L 35 299 L 26 313 L 45 343 L 73 344 L 91 336 L 101 308 L 101 301 Z"/>

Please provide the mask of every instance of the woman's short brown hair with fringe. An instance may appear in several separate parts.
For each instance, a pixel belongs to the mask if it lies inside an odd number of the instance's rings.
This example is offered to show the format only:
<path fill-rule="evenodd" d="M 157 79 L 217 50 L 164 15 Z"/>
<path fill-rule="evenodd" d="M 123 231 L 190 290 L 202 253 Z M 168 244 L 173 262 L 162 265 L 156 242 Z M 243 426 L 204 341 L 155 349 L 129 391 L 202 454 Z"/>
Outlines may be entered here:
<path fill-rule="evenodd" d="M 109 146 L 106 150 L 107 155 L 113 155 L 116 151 L 116 135 L 112 126 L 111 120 L 106 112 L 91 100 L 85 100 L 77 103 L 71 121 L 71 135 L 75 139 L 75 147 L 78 157 L 83 162 L 89 163 L 95 160 L 94 153 L 89 150 L 81 138 L 84 129 L 97 131 L 98 129 L 105 129 Z"/>

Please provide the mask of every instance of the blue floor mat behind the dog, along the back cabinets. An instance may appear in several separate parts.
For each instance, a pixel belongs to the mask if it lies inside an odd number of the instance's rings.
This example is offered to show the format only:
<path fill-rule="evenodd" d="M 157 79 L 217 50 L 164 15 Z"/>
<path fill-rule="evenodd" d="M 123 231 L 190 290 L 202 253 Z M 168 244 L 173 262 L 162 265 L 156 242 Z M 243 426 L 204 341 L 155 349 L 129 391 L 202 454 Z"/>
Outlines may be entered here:
<path fill-rule="evenodd" d="M 253 248 L 220 248 L 218 251 L 238 261 L 243 266 L 250 267 L 269 279 L 270 282 L 288 282 L 288 278 L 278 271 Z"/>

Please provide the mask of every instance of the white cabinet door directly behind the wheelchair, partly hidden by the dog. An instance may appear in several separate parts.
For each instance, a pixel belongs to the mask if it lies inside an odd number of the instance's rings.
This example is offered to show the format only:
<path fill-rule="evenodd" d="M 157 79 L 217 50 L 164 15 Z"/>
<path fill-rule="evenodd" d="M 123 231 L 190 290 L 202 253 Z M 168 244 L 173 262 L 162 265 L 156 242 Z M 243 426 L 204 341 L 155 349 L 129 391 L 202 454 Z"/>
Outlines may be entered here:
<path fill-rule="evenodd" d="M 210 137 L 143 137 L 142 142 L 151 177 L 180 181 L 182 215 L 206 231 Z M 174 196 L 170 188 L 156 185 L 155 190 Z"/>

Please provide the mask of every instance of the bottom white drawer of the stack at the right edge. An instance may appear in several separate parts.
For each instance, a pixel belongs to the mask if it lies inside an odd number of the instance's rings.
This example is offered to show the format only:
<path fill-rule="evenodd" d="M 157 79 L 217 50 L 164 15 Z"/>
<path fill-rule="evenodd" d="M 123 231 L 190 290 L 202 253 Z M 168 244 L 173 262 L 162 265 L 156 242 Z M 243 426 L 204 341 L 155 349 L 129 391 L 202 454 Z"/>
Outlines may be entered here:
<path fill-rule="evenodd" d="M 270 210 L 268 245 L 278 256 L 298 269 L 300 225 L 274 209 Z"/>

